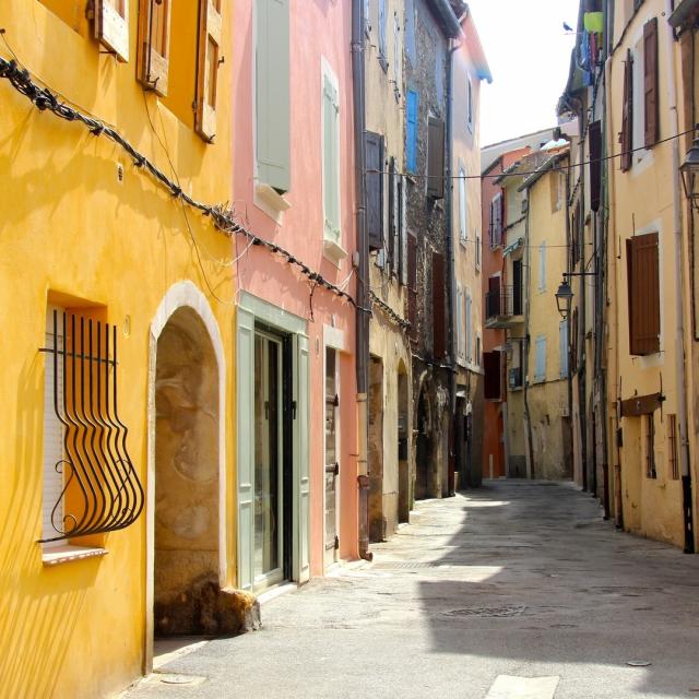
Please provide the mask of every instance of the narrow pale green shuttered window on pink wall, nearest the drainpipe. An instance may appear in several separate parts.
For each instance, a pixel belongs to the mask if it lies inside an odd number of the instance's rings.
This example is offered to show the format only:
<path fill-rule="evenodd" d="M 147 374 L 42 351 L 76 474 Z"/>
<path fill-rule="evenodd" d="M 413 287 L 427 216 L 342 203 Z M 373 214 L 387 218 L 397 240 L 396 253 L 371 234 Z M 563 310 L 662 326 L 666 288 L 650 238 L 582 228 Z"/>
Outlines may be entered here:
<path fill-rule="evenodd" d="M 322 75 L 323 235 L 325 240 L 339 246 L 342 238 L 340 229 L 340 96 L 337 80 L 330 69 L 324 67 Z"/>

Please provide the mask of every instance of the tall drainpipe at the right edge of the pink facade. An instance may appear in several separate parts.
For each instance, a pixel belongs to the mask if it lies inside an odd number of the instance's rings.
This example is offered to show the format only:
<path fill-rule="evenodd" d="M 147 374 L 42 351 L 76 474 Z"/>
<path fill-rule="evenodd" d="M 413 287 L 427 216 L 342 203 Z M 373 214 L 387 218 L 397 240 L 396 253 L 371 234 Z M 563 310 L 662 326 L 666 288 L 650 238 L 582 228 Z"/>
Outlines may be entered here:
<path fill-rule="evenodd" d="M 369 388 L 369 240 L 366 226 L 366 156 L 364 151 L 364 0 L 352 5 L 352 87 L 354 103 L 355 192 L 357 206 L 357 486 L 359 556 L 369 552 L 368 388 Z"/>

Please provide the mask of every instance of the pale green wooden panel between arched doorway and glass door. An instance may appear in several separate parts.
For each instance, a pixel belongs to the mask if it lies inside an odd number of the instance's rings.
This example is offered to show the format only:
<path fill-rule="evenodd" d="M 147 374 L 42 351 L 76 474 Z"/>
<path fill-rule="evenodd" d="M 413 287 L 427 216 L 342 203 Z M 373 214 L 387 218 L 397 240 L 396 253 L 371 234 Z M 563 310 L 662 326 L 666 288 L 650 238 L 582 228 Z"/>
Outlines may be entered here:
<path fill-rule="evenodd" d="M 238 588 L 249 590 L 254 536 L 254 316 L 240 307 L 237 316 Z"/>

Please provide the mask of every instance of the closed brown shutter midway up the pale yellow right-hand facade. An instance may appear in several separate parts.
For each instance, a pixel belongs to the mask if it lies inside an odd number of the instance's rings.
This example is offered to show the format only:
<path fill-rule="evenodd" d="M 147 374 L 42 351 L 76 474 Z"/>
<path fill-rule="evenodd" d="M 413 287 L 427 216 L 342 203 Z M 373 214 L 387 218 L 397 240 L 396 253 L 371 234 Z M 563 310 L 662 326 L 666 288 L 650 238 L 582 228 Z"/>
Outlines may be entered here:
<path fill-rule="evenodd" d="M 657 234 L 626 241 L 629 289 L 629 347 L 633 355 L 660 352 Z"/>

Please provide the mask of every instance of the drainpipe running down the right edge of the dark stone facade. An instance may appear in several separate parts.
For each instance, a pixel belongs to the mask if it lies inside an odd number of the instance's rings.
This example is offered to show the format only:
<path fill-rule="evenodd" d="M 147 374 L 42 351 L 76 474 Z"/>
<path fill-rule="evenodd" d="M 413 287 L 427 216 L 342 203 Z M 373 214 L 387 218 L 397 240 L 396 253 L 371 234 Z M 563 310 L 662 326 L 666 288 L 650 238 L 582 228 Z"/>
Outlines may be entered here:
<path fill-rule="evenodd" d="M 452 44 L 450 40 L 449 44 Z M 448 45 L 449 45 L 448 44 Z M 459 440 L 457 440 L 457 429 L 455 429 L 455 419 L 457 419 L 457 333 L 454 332 L 454 322 L 459 322 L 459 318 L 454 318 L 454 308 L 455 304 L 455 289 L 457 289 L 457 259 L 454 252 L 454 241 L 453 241 L 453 227 L 452 227 L 452 210 L 453 210 L 453 181 L 451 179 L 451 130 L 452 130 L 452 114 L 451 114 L 451 79 L 452 79 L 452 60 L 453 55 L 457 49 L 461 46 L 461 43 L 454 43 L 447 49 L 447 108 L 446 108 L 446 133 L 445 133 L 445 162 L 447 166 L 447 181 L 445 191 L 447 193 L 446 202 L 445 202 L 445 228 L 447 232 L 447 256 L 449 260 L 449 316 L 448 318 L 452 319 L 452 322 L 449 323 L 449 428 L 450 428 L 450 440 L 449 446 L 452 450 L 452 465 L 449 470 L 449 483 L 448 489 L 449 495 L 454 495 L 454 485 L 455 485 L 455 473 L 457 473 L 457 464 L 461 465 L 461 445 Z"/>

